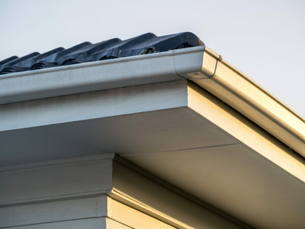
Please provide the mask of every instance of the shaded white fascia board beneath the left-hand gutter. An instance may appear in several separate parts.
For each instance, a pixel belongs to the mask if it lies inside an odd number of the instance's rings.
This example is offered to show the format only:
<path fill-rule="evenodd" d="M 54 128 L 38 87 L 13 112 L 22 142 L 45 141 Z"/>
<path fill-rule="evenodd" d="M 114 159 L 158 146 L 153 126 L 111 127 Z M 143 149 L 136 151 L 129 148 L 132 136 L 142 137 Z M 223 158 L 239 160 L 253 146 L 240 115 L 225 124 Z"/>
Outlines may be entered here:
<path fill-rule="evenodd" d="M 180 78 L 168 82 L 2 104 L 0 131 L 187 106 L 187 97 L 187 80 Z"/>

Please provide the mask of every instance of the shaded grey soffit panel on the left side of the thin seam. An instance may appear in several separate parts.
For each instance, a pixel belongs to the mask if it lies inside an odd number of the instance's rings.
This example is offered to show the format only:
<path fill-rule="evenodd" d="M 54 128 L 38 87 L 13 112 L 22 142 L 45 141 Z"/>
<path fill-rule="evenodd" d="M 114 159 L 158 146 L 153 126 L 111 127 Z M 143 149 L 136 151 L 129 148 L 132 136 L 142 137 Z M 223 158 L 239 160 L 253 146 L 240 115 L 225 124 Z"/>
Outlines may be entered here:
<path fill-rule="evenodd" d="M 0 132 L 2 165 L 237 144 L 186 107 Z"/>

